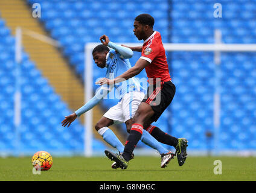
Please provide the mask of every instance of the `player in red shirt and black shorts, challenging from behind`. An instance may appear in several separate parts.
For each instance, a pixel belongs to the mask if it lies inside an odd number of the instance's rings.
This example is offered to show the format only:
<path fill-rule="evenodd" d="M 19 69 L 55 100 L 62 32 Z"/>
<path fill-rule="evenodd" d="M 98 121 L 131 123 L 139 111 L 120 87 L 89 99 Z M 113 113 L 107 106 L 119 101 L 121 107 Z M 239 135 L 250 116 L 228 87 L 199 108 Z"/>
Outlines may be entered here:
<path fill-rule="evenodd" d="M 147 94 L 133 116 L 133 124 L 123 154 L 118 155 L 108 150 L 105 151 L 106 156 L 117 162 L 122 169 L 127 168 L 132 152 L 141 138 L 143 129 L 149 131 L 158 141 L 173 145 L 173 147 L 176 148 L 176 155 L 180 166 L 185 163 L 187 157 L 187 139 L 174 138 L 161 131 L 158 127 L 151 125 L 153 121 L 158 120 L 159 116 L 161 116 L 164 110 L 169 106 L 173 100 L 176 89 L 171 82 L 161 34 L 153 30 L 154 22 L 153 17 L 149 14 L 140 14 L 135 18 L 133 32 L 138 40 L 144 40 L 144 43 L 142 46 L 129 48 L 133 51 L 141 52 L 141 57 L 136 62 L 135 66 L 114 80 L 102 78 L 97 82 L 97 84 L 100 85 L 119 83 L 134 77 L 144 68 L 149 78 Z"/>

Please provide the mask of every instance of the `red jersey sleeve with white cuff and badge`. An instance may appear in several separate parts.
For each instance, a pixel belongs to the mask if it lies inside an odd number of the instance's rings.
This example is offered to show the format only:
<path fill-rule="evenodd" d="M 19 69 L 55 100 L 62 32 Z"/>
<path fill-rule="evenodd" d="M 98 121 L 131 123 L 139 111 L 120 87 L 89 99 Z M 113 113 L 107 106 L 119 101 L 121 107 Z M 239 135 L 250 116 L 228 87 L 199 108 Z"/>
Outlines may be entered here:
<path fill-rule="evenodd" d="M 151 63 L 158 54 L 159 54 L 158 43 L 156 43 L 155 41 L 152 41 L 151 44 L 146 45 L 142 48 L 140 59 L 147 60 L 147 62 Z"/>

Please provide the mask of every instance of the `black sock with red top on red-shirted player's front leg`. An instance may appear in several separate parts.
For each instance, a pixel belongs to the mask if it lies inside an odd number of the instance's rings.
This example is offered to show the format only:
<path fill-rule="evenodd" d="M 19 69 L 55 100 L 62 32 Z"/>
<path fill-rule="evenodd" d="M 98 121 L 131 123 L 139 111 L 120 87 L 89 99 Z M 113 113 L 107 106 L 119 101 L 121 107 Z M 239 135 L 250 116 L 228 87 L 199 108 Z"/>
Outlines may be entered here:
<path fill-rule="evenodd" d="M 132 152 L 136 147 L 136 145 L 138 144 L 139 139 L 141 139 L 142 131 L 143 131 L 143 127 L 141 125 L 139 126 L 138 124 L 132 125 L 132 128 L 130 129 L 130 134 L 127 138 L 126 145 L 124 147 L 124 152 L 122 154 L 122 156 L 126 161 L 129 161 L 130 158 L 132 157 Z"/>

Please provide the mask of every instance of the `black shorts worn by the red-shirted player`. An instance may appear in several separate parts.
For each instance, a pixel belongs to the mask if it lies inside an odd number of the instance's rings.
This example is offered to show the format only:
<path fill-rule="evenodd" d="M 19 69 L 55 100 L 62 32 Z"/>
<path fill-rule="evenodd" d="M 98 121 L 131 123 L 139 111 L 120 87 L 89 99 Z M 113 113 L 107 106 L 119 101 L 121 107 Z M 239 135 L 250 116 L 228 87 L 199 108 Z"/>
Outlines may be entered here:
<path fill-rule="evenodd" d="M 176 87 L 171 81 L 151 84 L 147 88 L 147 94 L 141 102 L 149 104 L 155 112 L 152 121 L 157 121 L 164 110 L 170 105 L 175 94 Z"/>

